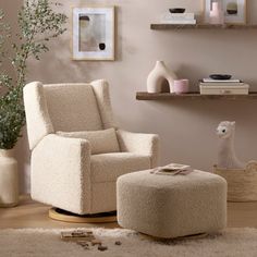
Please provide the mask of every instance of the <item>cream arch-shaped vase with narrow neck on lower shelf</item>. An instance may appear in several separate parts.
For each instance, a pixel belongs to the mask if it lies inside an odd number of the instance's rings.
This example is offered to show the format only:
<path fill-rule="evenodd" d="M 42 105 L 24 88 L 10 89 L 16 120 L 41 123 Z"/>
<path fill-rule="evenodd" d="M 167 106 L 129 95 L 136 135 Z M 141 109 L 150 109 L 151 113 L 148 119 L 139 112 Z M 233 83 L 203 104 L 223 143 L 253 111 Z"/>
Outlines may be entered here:
<path fill-rule="evenodd" d="M 170 93 L 174 93 L 174 79 L 178 79 L 175 73 L 170 71 L 163 61 L 157 61 L 156 66 L 147 77 L 147 91 L 162 93 L 162 84 L 164 81 L 168 81 Z"/>

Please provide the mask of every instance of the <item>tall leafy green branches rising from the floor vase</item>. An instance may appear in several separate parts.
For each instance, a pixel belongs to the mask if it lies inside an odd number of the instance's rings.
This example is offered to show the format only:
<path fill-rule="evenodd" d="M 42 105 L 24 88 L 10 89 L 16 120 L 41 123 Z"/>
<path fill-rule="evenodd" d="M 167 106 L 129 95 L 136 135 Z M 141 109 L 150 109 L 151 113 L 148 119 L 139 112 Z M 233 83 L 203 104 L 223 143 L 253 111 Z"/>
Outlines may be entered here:
<path fill-rule="evenodd" d="M 49 40 L 66 30 L 66 15 L 53 11 L 53 5 L 61 4 L 49 0 L 25 0 L 17 15 L 20 33 L 14 36 L 0 10 L 0 65 L 9 61 L 15 74 L 11 76 L 5 71 L 0 72 L 0 149 L 12 149 L 22 136 L 27 60 L 40 60 L 41 53 L 49 51 Z M 12 44 L 10 51 L 7 49 L 11 41 L 17 42 Z"/>

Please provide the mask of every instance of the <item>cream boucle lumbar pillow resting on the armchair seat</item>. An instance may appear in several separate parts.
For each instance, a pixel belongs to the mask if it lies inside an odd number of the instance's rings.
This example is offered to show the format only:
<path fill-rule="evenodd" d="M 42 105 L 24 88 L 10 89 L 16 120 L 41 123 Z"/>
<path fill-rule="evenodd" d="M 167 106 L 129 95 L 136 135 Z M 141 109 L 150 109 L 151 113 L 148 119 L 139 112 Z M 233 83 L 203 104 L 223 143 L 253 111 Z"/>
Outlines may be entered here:
<path fill-rule="evenodd" d="M 91 146 L 91 155 L 119 152 L 120 146 L 114 128 L 102 131 L 57 132 L 57 135 L 87 139 Z"/>

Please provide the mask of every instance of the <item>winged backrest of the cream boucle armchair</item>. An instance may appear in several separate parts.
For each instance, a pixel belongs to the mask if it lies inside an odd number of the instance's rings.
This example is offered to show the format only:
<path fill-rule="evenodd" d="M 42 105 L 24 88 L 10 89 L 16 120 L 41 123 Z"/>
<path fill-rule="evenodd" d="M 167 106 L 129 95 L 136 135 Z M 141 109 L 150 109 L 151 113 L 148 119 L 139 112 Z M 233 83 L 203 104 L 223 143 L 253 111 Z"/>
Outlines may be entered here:
<path fill-rule="evenodd" d="M 57 131 L 99 131 L 115 126 L 106 81 L 29 83 L 24 87 L 24 105 L 30 149 Z"/>

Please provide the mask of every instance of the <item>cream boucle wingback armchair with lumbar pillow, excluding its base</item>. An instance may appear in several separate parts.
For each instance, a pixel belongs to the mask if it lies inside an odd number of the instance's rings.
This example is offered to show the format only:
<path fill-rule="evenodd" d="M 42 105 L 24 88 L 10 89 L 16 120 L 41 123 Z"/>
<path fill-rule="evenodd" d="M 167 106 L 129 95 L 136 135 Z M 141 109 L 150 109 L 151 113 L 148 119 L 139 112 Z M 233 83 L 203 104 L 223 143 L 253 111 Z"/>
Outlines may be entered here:
<path fill-rule="evenodd" d="M 115 182 L 155 168 L 157 135 L 117 128 L 106 81 L 24 88 L 32 198 L 77 215 L 117 209 Z"/>

